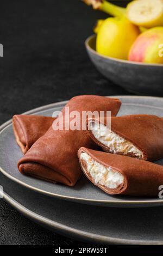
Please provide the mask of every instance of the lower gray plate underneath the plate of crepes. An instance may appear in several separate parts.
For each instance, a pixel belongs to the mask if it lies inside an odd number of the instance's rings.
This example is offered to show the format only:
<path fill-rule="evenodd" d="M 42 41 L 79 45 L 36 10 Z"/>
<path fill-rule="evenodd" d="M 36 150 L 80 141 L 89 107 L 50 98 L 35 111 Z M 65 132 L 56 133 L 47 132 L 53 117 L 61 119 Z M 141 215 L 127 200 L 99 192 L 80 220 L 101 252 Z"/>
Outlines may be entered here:
<path fill-rule="evenodd" d="M 149 211 L 82 205 L 36 193 L 2 173 L 0 180 L 9 204 L 59 234 L 93 243 L 163 245 L 162 207 Z"/>

